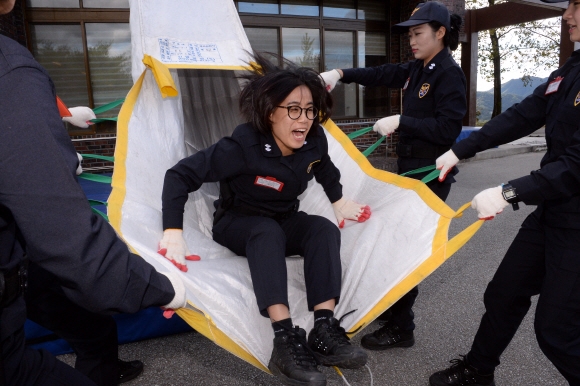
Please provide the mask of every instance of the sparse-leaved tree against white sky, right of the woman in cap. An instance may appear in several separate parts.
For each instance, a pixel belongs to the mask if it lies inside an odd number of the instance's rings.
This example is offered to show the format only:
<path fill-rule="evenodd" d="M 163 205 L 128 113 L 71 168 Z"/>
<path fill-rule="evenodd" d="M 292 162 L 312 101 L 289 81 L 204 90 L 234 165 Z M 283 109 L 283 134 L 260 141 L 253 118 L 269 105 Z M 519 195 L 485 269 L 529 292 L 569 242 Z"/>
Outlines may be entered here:
<path fill-rule="evenodd" d="M 467 0 L 468 9 L 491 7 L 507 0 Z M 561 18 L 552 18 L 479 33 L 479 72 L 493 81 L 494 103 L 492 118 L 502 112 L 501 75 L 519 70 L 522 82 L 539 71 L 555 68 L 558 64 Z M 531 64 L 531 65 L 530 65 Z"/>

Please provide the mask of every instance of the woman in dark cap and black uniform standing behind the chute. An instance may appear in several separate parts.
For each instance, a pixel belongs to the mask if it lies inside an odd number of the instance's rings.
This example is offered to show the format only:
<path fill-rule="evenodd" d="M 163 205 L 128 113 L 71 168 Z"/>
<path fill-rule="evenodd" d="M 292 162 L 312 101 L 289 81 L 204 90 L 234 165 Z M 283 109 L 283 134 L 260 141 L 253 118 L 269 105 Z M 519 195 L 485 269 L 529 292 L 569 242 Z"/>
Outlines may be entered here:
<path fill-rule="evenodd" d="M 420 3 L 411 18 L 393 27 L 393 32 L 408 32 L 415 60 L 404 64 L 384 64 L 370 68 L 332 70 L 321 74 L 327 87 L 336 82 L 356 82 L 364 86 L 403 88 L 402 115 L 378 120 L 373 129 L 381 135 L 398 130 L 397 172 L 399 174 L 433 165 L 461 133 L 462 119 L 467 111 L 466 80 L 461 68 L 451 56 L 459 44 L 461 17 L 450 15 L 436 1 Z M 444 181 L 432 181 L 429 188 L 445 200 L 454 182 L 451 172 Z M 426 173 L 415 174 L 421 179 Z M 362 346 L 370 350 L 411 347 L 415 343 L 412 310 L 419 293 L 413 288 L 389 310 L 379 316 L 382 327 L 362 338 Z"/>

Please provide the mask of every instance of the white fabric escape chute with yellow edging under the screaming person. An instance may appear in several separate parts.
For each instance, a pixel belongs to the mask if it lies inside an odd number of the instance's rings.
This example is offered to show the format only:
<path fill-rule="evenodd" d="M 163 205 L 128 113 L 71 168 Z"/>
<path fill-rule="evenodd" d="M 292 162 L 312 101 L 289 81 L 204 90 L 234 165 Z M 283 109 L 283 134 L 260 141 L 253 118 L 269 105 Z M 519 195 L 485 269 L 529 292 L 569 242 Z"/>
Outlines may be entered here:
<path fill-rule="evenodd" d="M 133 71 L 138 76 L 119 114 L 109 217 L 133 251 L 159 271 L 182 275 L 189 304 L 177 310 L 180 317 L 268 371 L 273 334 L 270 321 L 258 312 L 247 260 L 212 240 L 217 184 L 191 193 L 185 207 L 184 236 L 202 260 L 188 262 L 189 271 L 182 273 L 156 253 L 165 171 L 241 123 L 234 72 L 244 70 L 244 50 L 250 46 L 231 0 L 159 4 L 131 1 Z M 464 208 L 450 209 L 420 181 L 374 169 L 335 124 L 328 122 L 325 129 L 344 195 L 373 210 L 369 221 L 341 230 L 343 284 L 335 313 L 356 310 L 343 322 L 355 331 L 433 272 L 482 222 L 448 241 L 449 224 Z M 301 210 L 336 221 L 314 180 L 300 203 Z M 289 257 L 287 266 L 292 318 L 308 331 L 313 322 L 303 260 Z"/>

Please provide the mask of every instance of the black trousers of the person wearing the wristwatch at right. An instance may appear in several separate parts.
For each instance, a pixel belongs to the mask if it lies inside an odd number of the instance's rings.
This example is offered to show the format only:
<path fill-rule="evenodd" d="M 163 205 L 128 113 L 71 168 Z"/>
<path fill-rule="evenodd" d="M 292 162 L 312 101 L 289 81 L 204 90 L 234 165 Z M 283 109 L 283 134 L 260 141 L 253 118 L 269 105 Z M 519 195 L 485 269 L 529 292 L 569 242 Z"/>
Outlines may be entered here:
<path fill-rule="evenodd" d="M 580 230 L 544 224 L 538 208 L 523 222 L 484 294 L 486 312 L 469 362 L 492 372 L 539 294 L 534 320 L 544 354 L 580 385 Z"/>

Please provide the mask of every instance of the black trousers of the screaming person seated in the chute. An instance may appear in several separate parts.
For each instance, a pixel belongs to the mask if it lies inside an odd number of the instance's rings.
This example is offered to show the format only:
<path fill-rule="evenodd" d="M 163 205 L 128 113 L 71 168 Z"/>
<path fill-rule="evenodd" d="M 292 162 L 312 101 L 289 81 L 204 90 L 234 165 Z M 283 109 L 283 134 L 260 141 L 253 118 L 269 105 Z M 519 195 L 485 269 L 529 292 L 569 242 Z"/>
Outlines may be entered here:
<path fill-rule="evenodd" d="M 213 239 L 246 256 L 260 314 L 288 304 L 286 256 L 304 257 L 308 309 L 340 297 L 340 231 L 328 219 L 297 212 L 280 222 L 228 211 L 214 226 Z"/>

